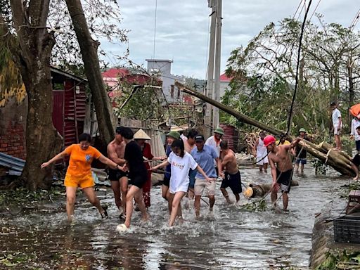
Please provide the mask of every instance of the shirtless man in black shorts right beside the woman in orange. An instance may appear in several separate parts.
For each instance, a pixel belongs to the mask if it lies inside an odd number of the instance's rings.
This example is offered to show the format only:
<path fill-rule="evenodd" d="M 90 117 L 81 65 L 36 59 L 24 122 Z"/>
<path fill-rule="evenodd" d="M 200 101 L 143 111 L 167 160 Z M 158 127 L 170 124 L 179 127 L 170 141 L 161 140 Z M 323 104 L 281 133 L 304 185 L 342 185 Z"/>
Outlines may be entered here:
<path fill-rule="evenodd" d="M 116 128 L 115 139 L 108 144 L 108 158 L 118 165 L 124 165 L 125 146 L 122 136 L 119 133 L 120 127 Z M 111 188 L 114 191 L 115 204 L 120 210 L 120 218 L 126 212 L 128 174 L 120 169 L 110 169 L 108 176 Z M 122 198 L 122 200 L 121 200 Z M 122 208 L 122 210 L 121 210 Z"/>

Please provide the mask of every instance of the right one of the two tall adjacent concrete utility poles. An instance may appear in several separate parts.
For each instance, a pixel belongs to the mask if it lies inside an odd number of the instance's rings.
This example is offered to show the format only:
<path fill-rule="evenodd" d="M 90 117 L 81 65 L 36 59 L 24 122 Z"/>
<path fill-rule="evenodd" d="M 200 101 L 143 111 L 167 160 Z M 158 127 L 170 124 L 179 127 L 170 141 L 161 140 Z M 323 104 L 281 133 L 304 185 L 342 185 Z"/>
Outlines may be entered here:
<path fill-rule="evenodd" d="M 222 0 L 217 0 L 217 30 L 216 30 L 216 44 L 215 44 L 215 70 L 214 70 L 214 88 L 212 94 L 215 101 L 220 101 L 220 72 L 221 72 L 221 8 Z M 216 129 L 219 127 L 219 108 L 213 107 L 212 111 L 212 127 Z"/>

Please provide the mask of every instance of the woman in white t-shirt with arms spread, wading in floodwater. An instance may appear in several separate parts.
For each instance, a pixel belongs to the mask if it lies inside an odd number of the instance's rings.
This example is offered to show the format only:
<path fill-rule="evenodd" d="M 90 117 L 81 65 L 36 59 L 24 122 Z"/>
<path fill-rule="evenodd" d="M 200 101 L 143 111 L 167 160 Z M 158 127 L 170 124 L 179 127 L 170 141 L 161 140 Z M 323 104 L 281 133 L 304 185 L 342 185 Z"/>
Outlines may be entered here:
<path fill-rule="evenodd" d="M 188 178 L 188 172 L 190 169 L 198 169 L 200 174 L 203 174 L 207 181 L 213 181 L 207 177 L 203 169 L 195 162 L 193 157 L 184 150 L 184 142 L 182 140 L 175 140 L 172 143 L 172 153 L 169 158 L 160 165 L 157 165 L 152 170 L 166 167 L 171 165 L 171 178 L 170 178 L 170 196 L 169 203 L 172 202 L 172 211 L 170 213 L 169 226 L 174 225 L 176 215 L 182 219 L 181 214 L 181 200 L 188 191 L 188 184 L 190 182 Z"/>

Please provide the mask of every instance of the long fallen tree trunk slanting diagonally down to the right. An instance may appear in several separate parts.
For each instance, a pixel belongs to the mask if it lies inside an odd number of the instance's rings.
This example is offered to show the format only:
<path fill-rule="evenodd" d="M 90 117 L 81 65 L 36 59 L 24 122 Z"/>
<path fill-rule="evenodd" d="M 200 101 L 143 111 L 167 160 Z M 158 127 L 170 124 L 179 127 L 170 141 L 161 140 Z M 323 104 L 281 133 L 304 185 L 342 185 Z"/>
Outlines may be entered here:
<path fill-rule="evenodd" d="M 246 124 L 258 127 L 259 129 L 263 129 L 274 135 L 280 135 L 281 133 L 285 133 L 285 131 L 274 129 L 267 124 L 261 123 L 255 119 L 252 119 L 251 117 L 238 113 L 236 110 L 233 110 L 229 106 L 219 103 L 218 101 L 214 101 L 212 98 L 208 98 L 207 96 L 200 94 L 198 91 L 195 91 L 190 87 L 185 86 L 184 84 L 175 82 L 175 86 L 181 89 L 181 91 L 184 91 L 187 94 L 191 94 L 192 96 L 196 96 L 197 98 L 200 98 L 201 100 L 210 103 L 211 105 L 214 105 L 220 110 L 223 110 L 225 113 L 233 115 L 233 117 L 236 117 L 238 120 Z M 294 136 L 289 137 L 291 139 L 295 139 Z M 299 142 L 299 145 L 302 146 L 304 150 L 307 150 L 307 152 L 313 155 L 315 158 L 318 158 L 319 160 L 321 160 L 321 162 L 329 165 L 330 167 L 333 167 L 341 174 L 355 176 L 355 172 L 352 169 L 352 159 L 349 157 L 349 155 L 333 150 L 333 147 L 330 146 L 330 144 L 323 142 L 319 145 L 316 145 L 309 141 L 302 140 Z"/>

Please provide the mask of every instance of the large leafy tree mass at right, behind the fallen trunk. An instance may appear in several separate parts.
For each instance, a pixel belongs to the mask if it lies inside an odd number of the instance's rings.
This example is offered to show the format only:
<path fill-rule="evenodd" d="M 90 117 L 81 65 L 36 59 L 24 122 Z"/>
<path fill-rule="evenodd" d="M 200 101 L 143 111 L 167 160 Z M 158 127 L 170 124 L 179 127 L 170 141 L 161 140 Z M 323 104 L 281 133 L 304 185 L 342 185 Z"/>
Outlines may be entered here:
<path fill-rule="evenodd" d="M 300 22 L 285 18 L 278 25 L 266 25 L 248 46 L 234 49 L 226 70 L 233 79 L 222 102 L 260 122 L 286 130 L 295 89 L 300 27 Z M 330 101 L 340 102 L 347 123 L 348 105 L 356 102 L 354 96 L 360 90 L 354 81 L 360 75 L 360 59 L 354 57 L 360 54 L 358 44 L 359 35 L 347 27 L 307 23 L 290 133 L 295 135 L 297 129 L 304 127 L 309 134 L 327 134 Z M 349 60 L 353 61 L 352 73 Z M 349 94 L 349 77 L 354 81 L 353 95 Z M 247 128 L 225 113 L 221 113 L 221 121 Z"/>

